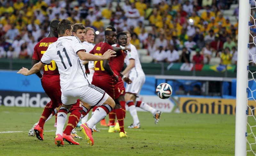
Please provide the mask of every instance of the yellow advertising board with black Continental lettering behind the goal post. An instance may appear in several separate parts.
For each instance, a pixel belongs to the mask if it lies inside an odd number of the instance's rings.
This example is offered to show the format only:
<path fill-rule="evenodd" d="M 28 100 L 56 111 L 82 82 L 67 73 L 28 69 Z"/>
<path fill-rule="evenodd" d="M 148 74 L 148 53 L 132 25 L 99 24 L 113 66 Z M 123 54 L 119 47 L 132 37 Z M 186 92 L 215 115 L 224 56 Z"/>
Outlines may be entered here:
<path fill-rule="evenodd" d="M 180 97 L 178 101 L 181 113 L 236 114 L 236 99 Z M 255 114 L 256 102 L 249 100 L 248 105 L 248 114 Z"/>

